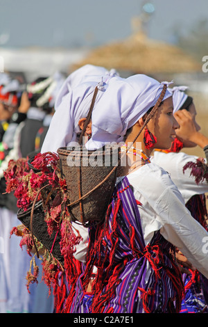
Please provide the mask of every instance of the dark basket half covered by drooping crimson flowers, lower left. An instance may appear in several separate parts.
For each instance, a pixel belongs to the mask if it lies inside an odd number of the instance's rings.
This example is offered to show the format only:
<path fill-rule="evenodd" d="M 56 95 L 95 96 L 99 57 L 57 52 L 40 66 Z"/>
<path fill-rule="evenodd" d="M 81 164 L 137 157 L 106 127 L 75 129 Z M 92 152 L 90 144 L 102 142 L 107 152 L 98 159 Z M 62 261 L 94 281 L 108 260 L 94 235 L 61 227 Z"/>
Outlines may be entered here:
<path fill-rule="evenodd" d="M 39 201 L 35 204 L 34 212 L 33 212 L 33 220 L 31 221 L 31 207 L 28 208 L 27 211 L 24 209 L 19 209 L 17 212 L 17 218 L 23 225 L 28 228 L 28 230 L 32 231 L 34 236 L 40 241 L 40 243 L 45 246 L 47 250 L 49 250 L 53 257 L 55 257 L 62 266 L 64 266 L 64 257 L 62 257 L 60 252 L 60 235 L 56 234 L 54 231 L 51 236 L 47 231 L 47 224 L 44 221 L 44 209 L 42 207 L 42 201 Z M 31 226 L 32 222 L 32 226 Z"/>

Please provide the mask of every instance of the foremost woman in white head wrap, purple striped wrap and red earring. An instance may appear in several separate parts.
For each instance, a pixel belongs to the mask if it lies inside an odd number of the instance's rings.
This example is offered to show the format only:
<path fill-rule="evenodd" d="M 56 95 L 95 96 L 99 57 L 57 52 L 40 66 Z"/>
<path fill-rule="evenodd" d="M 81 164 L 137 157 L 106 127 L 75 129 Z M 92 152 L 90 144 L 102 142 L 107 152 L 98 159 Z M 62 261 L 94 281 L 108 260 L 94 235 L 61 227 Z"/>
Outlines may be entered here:
<path fill-rule="evenodd" d="M 128 150 L 132 164 L 127 175 L 117 180 L 105 221 L 89 228 L 86 267 L 76 289 L 71 288 L 63 311 L 179 312 L 183 285 L 172 244 L 208 276 L 201 241 L 208 234 L 191 217 L 168 173 L 148 159 L 156 145 L 146 147 L 146 128 L 155 134 L 157 146 L 165 148 L 171 145 L 178 127 L 171 93 L 164 83 L 144 75 L 112 77 L 102 86 L 87 148 L 121 138 L 134 146 L 139 141 L 141 147 L 122 148 L 124 153 Z M 93 266 L 97 268 L 95 278 Z M 87 294 L 91 278 L 92 293 Z"/>

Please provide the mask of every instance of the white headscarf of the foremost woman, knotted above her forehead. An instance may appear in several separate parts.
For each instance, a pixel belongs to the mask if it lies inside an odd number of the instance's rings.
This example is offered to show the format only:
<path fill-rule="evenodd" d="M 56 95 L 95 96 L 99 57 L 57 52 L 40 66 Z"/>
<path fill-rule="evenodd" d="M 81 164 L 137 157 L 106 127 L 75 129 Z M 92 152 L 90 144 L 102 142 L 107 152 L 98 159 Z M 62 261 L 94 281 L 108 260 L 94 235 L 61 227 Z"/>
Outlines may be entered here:
<path fill-rule="evenodd" d="M 137 74 L 127 79 L 110 79 L 103 97 L 95 104 L 92 115 L 92 138 L 88 150 L 102 147 L 105 142 L 120 142 L 127 129 L 155 106 L 164 87 L 155 79 Z M 164 99 L 172 94 L 166 90 Z"/>

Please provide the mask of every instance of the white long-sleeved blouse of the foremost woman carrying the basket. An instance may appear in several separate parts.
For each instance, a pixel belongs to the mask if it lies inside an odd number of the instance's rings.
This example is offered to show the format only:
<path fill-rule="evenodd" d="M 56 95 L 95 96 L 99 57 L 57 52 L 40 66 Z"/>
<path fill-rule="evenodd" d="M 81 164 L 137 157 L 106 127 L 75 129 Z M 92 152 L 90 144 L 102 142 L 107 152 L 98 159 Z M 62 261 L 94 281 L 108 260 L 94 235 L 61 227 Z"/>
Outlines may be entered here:
<path fill-rule="evenodd" d="M 159 230 L 208 278 L 208 233 L 191 216 L 166 170 L 155 163 L 148 163 L 130 173 L 128 180 L 133 186 L 135 198 L 141 202 L 139 213 L 145 243 L 148 244 L 154 232 Z M 81 253 L 81 257 L 85 257 L 87 229 L 83 237 L 84 241 L 77 248 L 78 255 L 75 253 L 78 260 Z"/>

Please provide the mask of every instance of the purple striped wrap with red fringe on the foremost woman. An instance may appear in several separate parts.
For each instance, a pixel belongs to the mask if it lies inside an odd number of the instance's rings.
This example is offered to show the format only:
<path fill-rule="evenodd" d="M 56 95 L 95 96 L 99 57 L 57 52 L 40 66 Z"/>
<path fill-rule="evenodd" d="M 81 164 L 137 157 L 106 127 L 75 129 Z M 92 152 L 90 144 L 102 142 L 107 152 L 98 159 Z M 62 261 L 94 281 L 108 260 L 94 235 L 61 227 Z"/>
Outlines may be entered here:
<path fill-rule="evenodd" d="M 174 248 L 159 231 L 145 246 L 127 177 L 116 186 L 109 210 L 102 229 L 97 226 L 89 232 L 87 266 L 68 312 L 85 312 L 83 285 L 93 265 L 98 273 L 89 312 L 179 312 L 183 284 Z"/>

